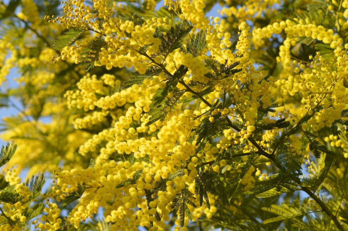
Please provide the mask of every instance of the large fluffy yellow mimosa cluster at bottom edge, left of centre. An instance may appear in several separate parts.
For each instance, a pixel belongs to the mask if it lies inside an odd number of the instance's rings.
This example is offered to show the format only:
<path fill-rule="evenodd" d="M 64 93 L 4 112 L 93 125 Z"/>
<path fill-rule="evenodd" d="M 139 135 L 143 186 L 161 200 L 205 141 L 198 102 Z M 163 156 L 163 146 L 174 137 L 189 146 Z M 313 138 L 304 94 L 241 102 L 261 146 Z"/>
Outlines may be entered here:
<path fill-rule="evenodd" d="M 116 224 L 119 225 L 119 230 L 126 230 L 126 224 L 130 223 L 128 227 L 131 227 L 135 221 L 135 211 L 132 208 L 137 204 L 139 207 L 147 207 L 147 203 L 143 198 L 145 192 L 137 184 L 127 185 L 120 189 L 116 188 L 115 185 L 132 178 L 135 171 L 140 168 L 140 163 L 130 166 L 129 162 L 116 163 L 112 160 L 103 165 L 95 164 L 94 168 L 89 167 L 86 170 L 60 171 L 55 177 L 57 186 L 54 188 L 56 189 L 50 196 L 56 197 L 60 201 L 65 198 L 65 193 L 77 189 L 74 185 L 77 185 L 78 182 L 86 182 L 84 197 L 70 212 L 68 223 L 78 227 L 81 220 L 97 213 L 98 207 L 102 206 L 105 208 L 104 215 L 106 219 L 117 221 Z M 59 189 L 57 188 L 58 185 Z M 95 190 L 96 188 L 98 189 Z M 107 204 L 106 202 L 110 200 L 113 200 L 114 203 Z M 119 211 L 119 213 L 112 211 Z"/>

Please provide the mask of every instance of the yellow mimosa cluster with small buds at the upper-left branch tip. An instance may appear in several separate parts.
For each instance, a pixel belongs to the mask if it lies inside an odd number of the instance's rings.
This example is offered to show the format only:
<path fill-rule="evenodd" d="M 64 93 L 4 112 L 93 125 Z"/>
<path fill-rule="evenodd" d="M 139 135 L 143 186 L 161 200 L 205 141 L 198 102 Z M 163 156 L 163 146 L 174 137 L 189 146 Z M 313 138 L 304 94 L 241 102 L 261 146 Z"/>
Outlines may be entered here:
<path fill-rule="evenodd" d="M 134 25 L 130 20 L 123 21 L 117 20 L 116 18 L 110 17 L 112 13 L 112 8 L 107 7 L 104 1 L 95 1 L 94 9 L 98 11 L 98 17 L 104 17 L 105 23 L 102 24 L 102 28 L 95 22 L 96 15 L 90 12 L 88 6 L 85 6 L 81 1 L 73 1 L 72 4 L 76 6 L 73 8 L 71 3 L 65 2 L 64 10 L 68 13 L 68 17 L 57 17 L 52 20 L 52 22 L 59 21 L 67 25 L 79 25 L 82 27 L 92 28 L 93 31 L 103 34 L 105 36 L 105 45 L 108 45 L 108 49 L 101 49 L 98 54 L 102 65 L 106 66 L 106 69 L 111 69 L 112 67 L 134 67 L 136 71 L 144 74 L 148 63 L 148 58 L 144 55 L 139 55 L 138 50 L 145 45 L 149 45 L 147 48 L 147 54 L 154 53 L 158 50 L 161 43 L 160 39 L 153 37 L 154 28 L 150 25 Z M 83 8 L 81 6 L 83 5 Z M 80 9 L 80 10 L 77 10 Z M 99 11 L 100 9 L 101 11 Z M 106 10 L 107 9 L 107 10 Z M 46 16 L 46 18 L 50 18 Z M 81 20 L 82 18 L 82 20 Z M 87 19 L 88 18 L 88 19 Z M 126 33 L 130 34 L 129 38 L 126 37 Z M 78 46 L 66 47 L 61 57 L 56 58 L 58 61 L 60 59 L 66 60 L 72 58 L 75 63 L 79 63 L 79 55 L 82 49 L 88 44 L 88 40 L 81 43 L 76 42 Z M 99 65 L 96 63 L 96 65 Z"/>

